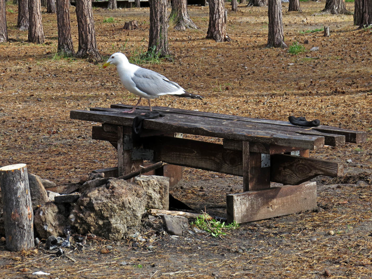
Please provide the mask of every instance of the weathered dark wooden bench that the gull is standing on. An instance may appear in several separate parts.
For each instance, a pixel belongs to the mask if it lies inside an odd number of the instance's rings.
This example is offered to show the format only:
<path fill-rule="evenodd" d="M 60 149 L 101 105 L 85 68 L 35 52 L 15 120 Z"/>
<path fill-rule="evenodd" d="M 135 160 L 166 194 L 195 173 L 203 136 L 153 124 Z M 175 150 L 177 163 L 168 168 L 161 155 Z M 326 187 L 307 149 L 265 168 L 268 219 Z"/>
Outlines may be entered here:
<path fill-rule="evenodd" d="M 147 113 L 148 107 L 140 106 L 133 114 L 121 113 L 131 107 L 114 104 L 90 111 L 72 110 L 70 117 L 102 123 L 93 126 L 92 138 L 107 140 L 116 147 L 115 175 L 134 171 L 143 160 L 149 160 L 243 176 L 243 192 L 227 195 L 229 222 L 244 223 L 314 209 L 316 183 L 309 180 L 318 175 L 342 176 L 343 165 L 309 158 L 309 150 L 366 140 L 365 132 L 331 126 L 308 129 L 287 121 L 153 107 L 165 116 L 144 120 L 138 143 L 131 136 L 133 118 Z M 183 139 L 182 133 L 215 137 L 222 143 Z M 166 175 L 176 183 L 180 172 L 178 167 Z M 270 182 L 284 186 L 273 187 Z"/>

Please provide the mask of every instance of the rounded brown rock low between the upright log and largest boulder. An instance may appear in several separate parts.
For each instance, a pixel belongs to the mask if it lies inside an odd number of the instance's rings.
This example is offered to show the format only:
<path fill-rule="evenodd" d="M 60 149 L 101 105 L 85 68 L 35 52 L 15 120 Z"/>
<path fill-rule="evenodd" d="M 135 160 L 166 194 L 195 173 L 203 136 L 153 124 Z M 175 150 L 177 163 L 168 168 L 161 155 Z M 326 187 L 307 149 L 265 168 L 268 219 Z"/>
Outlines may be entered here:
<path fill-rule="evenodd" d="M 33 216 L 33 225 L 39 237 L 64 236 L 64 227 L 68 220 L 67 210 L 63 204 L 48 202 L 39 207 Z"/>

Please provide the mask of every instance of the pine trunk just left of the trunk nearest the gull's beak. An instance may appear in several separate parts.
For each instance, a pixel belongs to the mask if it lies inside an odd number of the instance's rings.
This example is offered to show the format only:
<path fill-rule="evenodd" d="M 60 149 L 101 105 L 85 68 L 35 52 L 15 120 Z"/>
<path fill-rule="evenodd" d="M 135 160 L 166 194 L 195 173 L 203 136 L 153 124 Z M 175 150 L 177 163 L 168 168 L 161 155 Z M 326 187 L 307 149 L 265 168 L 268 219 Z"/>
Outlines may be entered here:
<path fill-rule="evenodd" d="M 71 38 L 70 0 L 57 0 L 57 52 L 71 56 L 75 53 Z"/>

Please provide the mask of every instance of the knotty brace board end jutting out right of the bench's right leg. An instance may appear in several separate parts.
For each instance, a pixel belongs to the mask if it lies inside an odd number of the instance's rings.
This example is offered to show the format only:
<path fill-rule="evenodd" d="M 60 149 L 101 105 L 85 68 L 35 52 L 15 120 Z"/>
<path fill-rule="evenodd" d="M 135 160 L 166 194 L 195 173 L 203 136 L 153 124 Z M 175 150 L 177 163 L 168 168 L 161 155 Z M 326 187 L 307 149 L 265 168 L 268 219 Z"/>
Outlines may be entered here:
<path fill-rule="evenodd" d="M 271 155 L 270 163 L 270 181 L 289 185 L 300 184 L 318 175 L 343 175 L 342 163 L 321 159 L 275 154 Z"/>

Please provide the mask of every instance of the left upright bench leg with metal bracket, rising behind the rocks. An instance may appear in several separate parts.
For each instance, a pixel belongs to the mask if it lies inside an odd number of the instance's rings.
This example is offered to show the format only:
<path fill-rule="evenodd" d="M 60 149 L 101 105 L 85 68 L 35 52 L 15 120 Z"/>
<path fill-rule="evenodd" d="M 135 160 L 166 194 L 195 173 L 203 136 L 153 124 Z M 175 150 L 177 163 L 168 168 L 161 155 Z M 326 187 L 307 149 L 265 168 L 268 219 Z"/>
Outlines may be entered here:
<path fill-rule="evenodd" d="M 138 170 L 143 163 L 141 159 L 132 160 L 132 148 L 126 146 L 123 126 L 118 126 L 118 176 Z"/>

